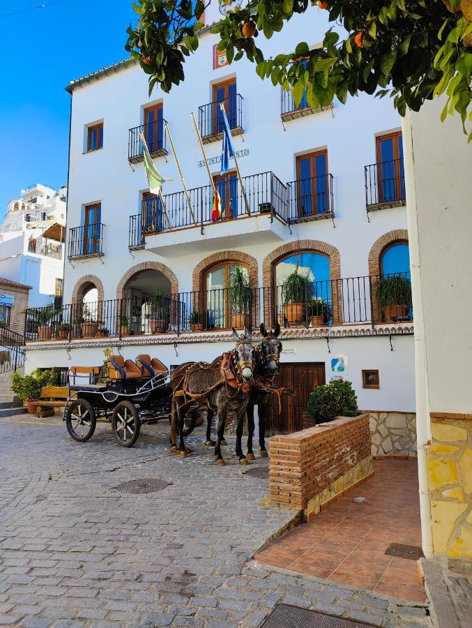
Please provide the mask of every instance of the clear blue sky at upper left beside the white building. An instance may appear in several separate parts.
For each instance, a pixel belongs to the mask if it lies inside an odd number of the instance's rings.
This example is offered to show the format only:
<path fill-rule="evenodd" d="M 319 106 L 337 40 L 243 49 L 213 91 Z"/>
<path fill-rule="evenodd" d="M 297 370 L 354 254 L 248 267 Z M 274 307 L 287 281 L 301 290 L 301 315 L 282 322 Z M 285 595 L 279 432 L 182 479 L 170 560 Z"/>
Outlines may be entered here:
<path fill-rule="evenodd" d="M 56 3 L 53 3 L 56 2 Z M 1 17 L 5 13 L 36 9 Z M 125 59 L 132 0 L 0 2 L 0 216 L 36 182 L 67 182 L 70 96 L 75 78 Z"/>

